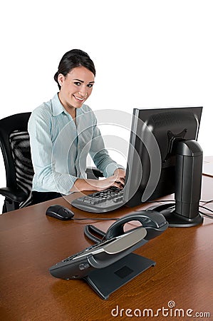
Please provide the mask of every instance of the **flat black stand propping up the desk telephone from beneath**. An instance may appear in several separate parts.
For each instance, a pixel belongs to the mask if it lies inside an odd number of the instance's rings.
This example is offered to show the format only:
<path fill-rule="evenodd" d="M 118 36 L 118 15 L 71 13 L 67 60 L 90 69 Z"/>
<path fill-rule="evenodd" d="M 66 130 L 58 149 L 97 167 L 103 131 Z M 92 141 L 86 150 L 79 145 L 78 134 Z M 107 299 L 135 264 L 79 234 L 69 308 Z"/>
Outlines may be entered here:
<path fill-rule="evenodd" d="M 107 300 L 111 293 L 155 264 L 148 258 L 130 253 L 108 267 L 93 270 L 84 279 L 102 299 Z"/>

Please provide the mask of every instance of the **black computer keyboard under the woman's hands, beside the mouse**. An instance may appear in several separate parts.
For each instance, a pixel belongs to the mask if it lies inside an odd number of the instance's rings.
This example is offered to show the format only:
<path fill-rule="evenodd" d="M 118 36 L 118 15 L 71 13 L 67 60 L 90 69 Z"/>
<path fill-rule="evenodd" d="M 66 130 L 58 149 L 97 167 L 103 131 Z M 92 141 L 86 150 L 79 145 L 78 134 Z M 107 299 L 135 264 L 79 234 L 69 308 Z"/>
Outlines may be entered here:
<path fill-rule="evenodd" d="M 101 192 L 95 192 L 93 194 L 85 195 L 81 198 L 73 200 L 71 204 L 79 208 L 92 213 L 104 213 L 110 210 L 115 210 L 124 205 L 123 202 L 123 190 L 112 186 Z"/>

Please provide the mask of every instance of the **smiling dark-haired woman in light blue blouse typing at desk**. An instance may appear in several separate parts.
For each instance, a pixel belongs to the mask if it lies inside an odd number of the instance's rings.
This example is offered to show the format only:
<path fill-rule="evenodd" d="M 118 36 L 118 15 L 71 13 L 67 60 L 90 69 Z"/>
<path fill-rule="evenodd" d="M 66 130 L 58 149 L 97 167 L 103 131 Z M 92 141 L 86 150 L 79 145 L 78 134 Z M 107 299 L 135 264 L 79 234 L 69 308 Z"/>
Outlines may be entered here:
<path fill-rule="evenodd" d="M 36 108 L 28 121 L 33 203 L 81 190 L 122 188 L 125 170 L 108 155 L 95 115 L 84 104 L 95 83 L 93 61 L 84 51 L 68 51 L 54 79 L 59 92 Z M 105 179 L 85 178 L 88 153 Z"/>

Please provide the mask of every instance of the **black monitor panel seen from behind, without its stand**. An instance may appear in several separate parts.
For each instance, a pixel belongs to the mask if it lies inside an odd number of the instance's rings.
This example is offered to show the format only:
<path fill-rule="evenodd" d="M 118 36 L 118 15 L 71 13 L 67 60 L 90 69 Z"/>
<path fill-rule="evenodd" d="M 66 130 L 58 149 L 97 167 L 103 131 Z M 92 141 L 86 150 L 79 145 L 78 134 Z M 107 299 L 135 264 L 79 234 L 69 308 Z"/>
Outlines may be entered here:
<path fill-rule="evenodd" d="M 175 193 L 177 146 L 182 141 L 197 141 L 201 115 L 202 107 L 133 110 L 126 205 L 133 207 Z"/>

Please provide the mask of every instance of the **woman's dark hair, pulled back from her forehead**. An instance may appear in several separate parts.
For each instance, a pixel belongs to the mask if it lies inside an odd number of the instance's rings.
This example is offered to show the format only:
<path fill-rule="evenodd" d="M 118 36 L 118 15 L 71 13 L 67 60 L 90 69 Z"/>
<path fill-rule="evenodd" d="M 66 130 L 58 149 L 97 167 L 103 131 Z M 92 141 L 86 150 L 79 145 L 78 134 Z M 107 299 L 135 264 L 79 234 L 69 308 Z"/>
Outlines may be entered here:
<path fill-rule="evenodd" d="M 83 66 L 88 68 L 95 76 L 95 66 L 93 61 L 90 59 L 90 56 L 80 49 L 73 49 L 66 52 L 61 58 L 61 61 L 58 65 L 58 71 L 56 72 L 54 79 L 58 83 L 58 75 L 62 73 L 63 76 L 66 76 L 73 68 Z M 58 83 L 58 88 L 61 89 L 61 86 Z"/>

